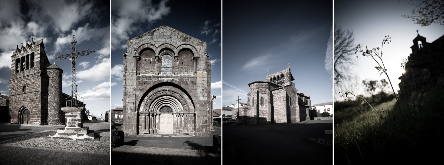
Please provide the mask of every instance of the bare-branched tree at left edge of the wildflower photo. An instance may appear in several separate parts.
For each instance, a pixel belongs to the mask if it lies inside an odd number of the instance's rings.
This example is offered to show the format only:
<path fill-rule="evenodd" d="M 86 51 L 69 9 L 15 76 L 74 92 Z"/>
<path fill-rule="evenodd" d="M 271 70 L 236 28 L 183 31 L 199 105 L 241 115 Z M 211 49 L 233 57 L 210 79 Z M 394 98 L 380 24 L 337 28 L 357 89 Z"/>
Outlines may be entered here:
<path fill-rule="evenodd" d="M 353 78 L 351 66 L 356 63 L 353 55 L 355 49 L 353 30 L 343 30 L 340 26 L 335 25 L 333 70 L 334 86 L 339 91 L 341 88 L 349 86 L 348 82 Z"/>

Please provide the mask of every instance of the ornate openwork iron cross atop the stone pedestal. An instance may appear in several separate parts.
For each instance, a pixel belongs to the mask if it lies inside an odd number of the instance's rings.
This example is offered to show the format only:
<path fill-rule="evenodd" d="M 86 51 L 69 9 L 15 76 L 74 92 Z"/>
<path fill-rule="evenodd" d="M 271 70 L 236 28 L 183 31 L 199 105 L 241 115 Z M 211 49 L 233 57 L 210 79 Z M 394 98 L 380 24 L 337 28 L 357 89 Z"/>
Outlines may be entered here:
<path fill-rule="evenodd" d="M 72 35 L 72 41 L 71 41 L 71 52 L 64 55 L 59 55 L 59 57 L 56 57 L 56 59 L 69 59 L 72 62 L 71 65 L 71 99 L 70 104 L 67 104 L 65 102 L 65 106 L 79 106 L 77 102 L 77 78 L 76 78 L 76 59 L 79 58 L 79 56 L 82 55 L 89 55 L 94 51 L 90 51 L 87 49 L 86 51 L 77 51 L 76 46 L 77 41 L 75 40 L 75 35 Z M 83 103 L 82 103 L 83 106 Z"/>

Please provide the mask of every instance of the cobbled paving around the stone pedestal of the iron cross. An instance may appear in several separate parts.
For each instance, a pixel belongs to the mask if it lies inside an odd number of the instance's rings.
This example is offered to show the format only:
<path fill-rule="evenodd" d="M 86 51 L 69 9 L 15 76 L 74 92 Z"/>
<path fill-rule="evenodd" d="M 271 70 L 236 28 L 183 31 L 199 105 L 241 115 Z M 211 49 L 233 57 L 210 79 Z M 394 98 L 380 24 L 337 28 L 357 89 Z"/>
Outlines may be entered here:
<path fill-rule="evenodd" d="M 2 132 L 0 135 L 3 137 L 3 130 L 8 130 L 13 132 L 12 128 L 8 127 L 8 124 L 2 124 Z M 59 127 L 63 126 L 20 126 L 26 129 L 24 136 L 16 137 L 15 135 L 8 140 L 1 141 L 0 144 L 3 146 L 14 146 L 20 148 L 28 149 L 50 149 L 50 150 L 63 150 L 69 152 L 77 153 L 99 153 L 99 154 L 109 154 L 110 153 L 110 123 L 109 122 L 87 122 L 83 126 L 90 126 L 90 130 L 97 130 L 101 138 L 100 141 L 76 141 L 76 140 L 66 140 L 66 139 L 50 139 L 44 138 L 49 135 L 49 132 L 55 131 Z M 13 126 L 15 127 L 15 126 Z M 106 129 L 107 128 L 107 129 Z M 29 130 L 28 130 L 29 129 Z M 41 131 L 39 131 L 41 130 Z M 38 132 L 37 132 L 38 131 Z M 33 133 L 36 132 L 36 133 Z M 12 137 L 12 136 L 11 136 Z"/>

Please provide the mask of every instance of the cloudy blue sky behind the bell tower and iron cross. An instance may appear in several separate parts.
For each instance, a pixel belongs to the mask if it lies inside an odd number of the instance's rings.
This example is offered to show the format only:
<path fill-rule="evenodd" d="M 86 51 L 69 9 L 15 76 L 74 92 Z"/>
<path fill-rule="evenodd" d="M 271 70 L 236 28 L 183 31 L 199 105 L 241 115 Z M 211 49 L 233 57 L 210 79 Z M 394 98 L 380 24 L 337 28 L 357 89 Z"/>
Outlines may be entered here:
<path fill-rule="evenodd" d="M 109 1 L 0 1 L 0 91 L 9 95 L 11 55 L 16 45 L 43 39 L 50 63 L 63 69 L 62 91 L 71 94 L 71 62 L 55 59 L 71 51 L 94 53 L 78 61 L 77 92 L 86 108 L 100 115 L 110 109 Z"/>

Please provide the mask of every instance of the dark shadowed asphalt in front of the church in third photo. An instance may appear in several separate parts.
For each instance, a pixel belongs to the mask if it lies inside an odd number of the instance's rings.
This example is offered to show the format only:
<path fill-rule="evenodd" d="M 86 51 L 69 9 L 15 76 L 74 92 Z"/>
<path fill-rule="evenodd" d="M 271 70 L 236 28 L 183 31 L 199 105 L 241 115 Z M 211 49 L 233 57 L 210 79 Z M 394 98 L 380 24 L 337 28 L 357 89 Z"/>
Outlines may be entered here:
<path fill-rule="evenodd" d="M 222 155 L 224 164 L 331 164 L 333 147 L 308 141 L 333 139 L 324 130 L 333 130 L 332 120 L 292 124 L 224 125 Z M 235 151 L 228 152 L 234 145 Z M 233 156 L 234 155 L 234 156 Z"/>

